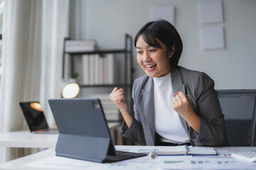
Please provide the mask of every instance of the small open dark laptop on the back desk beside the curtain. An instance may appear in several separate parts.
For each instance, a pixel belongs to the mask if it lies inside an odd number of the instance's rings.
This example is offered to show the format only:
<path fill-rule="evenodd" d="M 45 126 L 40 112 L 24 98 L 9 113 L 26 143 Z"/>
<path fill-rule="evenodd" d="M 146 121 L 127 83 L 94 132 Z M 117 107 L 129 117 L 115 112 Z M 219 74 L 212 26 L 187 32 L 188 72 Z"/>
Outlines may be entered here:
<path fill-rule="evenodd" d="M 57 128 L 49 128 L 43 108 L 38 101 L 19 102 L 31 133 L 58 133 Z"/>

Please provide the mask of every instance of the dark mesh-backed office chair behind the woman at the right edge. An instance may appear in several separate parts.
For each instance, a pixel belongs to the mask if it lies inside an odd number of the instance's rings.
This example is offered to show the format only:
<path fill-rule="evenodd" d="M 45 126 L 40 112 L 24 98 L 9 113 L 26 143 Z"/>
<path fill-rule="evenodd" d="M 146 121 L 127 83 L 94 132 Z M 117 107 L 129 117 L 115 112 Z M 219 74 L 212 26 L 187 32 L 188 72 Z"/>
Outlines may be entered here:
<path fill-rule="evenodd" d="M 232 147 L 256 146 L 256 89 L 219 89 L 228 142 Z"/>

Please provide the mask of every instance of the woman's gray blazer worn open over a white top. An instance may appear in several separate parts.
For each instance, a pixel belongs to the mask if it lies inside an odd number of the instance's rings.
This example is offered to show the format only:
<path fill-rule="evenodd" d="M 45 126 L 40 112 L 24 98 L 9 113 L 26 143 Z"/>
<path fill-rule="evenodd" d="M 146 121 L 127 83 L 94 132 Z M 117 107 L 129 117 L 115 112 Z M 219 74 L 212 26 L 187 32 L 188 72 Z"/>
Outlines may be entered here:
<path fill-rule="evenodd" d="M 179 116 L 193 146 L 228 146 L 224 115 L 220 108 L 214 81 L 203 72 L 183 67 L 171 68 L 171 85 L 174 92 L 187 94 L 193 111 L 201 118 L 199 133 Z M 146 74 L 134 81 L 132 89 L 134 118 L 130 128 L 122 125 L 120 134 L 139 145 L 154 145 L 154 81 Z M 171 104 L 171 103 L 170 103 Z"/>

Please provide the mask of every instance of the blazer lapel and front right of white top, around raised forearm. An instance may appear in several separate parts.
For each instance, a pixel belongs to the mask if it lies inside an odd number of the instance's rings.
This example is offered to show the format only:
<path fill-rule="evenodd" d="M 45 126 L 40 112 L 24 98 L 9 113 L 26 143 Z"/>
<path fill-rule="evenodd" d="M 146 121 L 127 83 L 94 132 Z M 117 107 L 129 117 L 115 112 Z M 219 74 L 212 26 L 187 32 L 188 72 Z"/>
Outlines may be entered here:
<path fill-rule="evenodd" d="M 182 91 L 184 94 L 186 94 L 185 85 L 183 84 L 181 72 L 178 68 L 171 68 L 171 86 L 174 92 Z M 186 120 L 182 118 L 181 115 L 178 115 L 178 117 L 181 120 L 181 125 L 186 131 L 186 134 L 189 136 L 188 124 L 186 123 Z"/>

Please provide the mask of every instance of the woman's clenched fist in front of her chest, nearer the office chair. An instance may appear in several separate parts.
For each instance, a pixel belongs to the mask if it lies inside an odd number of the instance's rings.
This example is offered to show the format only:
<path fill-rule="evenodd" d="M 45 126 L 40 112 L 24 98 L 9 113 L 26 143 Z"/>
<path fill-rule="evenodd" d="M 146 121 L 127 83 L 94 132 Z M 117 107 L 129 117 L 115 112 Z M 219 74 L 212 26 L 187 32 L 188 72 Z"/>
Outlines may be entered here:
<path fill-rule="evenodd" d="M 176 111 L 183 118 L 189 117 L 189 114 L 193 113 L 193 108 L 188 96 L 182 91 L 178 91 L 174 93 L 174 95 L 176 96 L 171 102 L 171 106 L 174 108 L 174 111 Z"/>

